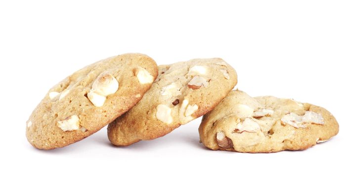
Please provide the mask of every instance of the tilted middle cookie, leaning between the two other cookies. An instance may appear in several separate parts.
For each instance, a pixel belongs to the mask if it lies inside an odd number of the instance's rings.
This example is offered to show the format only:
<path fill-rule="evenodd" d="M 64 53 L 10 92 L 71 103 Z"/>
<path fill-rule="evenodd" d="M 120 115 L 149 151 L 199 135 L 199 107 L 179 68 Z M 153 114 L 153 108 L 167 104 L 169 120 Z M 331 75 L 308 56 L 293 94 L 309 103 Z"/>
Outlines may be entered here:
<path fill-rule="evenodd" d="M 117 146 L 164 136 L 211 111 L 237 84 L 235 70 L 220 58 L 193 59 L 158 67 L 143 98 L 108 126 Z"/>

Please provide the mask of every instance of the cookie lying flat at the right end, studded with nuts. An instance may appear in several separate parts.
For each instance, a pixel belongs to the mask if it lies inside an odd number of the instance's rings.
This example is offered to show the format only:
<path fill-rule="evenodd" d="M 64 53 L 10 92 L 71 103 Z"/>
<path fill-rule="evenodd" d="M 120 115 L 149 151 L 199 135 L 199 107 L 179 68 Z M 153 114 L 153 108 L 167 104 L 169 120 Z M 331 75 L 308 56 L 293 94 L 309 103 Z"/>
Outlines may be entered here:
<path fill-rule="evenodd" d="M 293 99 L 233 90 L 203 117 L 201 142 L 212 150 L 270 153 L 304 150 L 339 131 L 326 109 Z"/>

